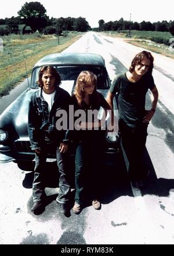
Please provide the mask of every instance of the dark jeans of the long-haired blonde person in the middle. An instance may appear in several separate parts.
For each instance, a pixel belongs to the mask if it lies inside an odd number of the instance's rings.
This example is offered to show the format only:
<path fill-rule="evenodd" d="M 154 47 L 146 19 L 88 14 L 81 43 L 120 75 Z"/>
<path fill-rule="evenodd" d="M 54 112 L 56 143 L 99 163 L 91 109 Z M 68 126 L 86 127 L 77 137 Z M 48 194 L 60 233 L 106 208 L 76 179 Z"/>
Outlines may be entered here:
<path fill-rule="evenodd" d="M 99 132 L 99 131 L 97 131 Z M 84 204 L 88 200 L 99 200 L 100 172 L 103 154 L 102 136 L 95 140 L 86 138 L 78 143 L 75 152 L 75 201 Z"/>

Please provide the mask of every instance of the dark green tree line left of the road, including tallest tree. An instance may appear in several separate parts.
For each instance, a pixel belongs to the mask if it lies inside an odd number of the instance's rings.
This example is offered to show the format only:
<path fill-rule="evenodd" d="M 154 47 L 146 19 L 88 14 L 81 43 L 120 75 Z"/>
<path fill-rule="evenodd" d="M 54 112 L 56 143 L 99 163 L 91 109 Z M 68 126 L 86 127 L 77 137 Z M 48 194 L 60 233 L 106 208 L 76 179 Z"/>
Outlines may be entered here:
<path fill-rule="evenodd" d="M 84 17 L 60 17 L 58 19 L 46 15 L 46 9 L 39 2 L 26 2 L 18 12 L 17 17 L 0 19 L 0 35 L 19 33 L 19 25 L 30 26 L 33 32 L 39 31 L 44 34 L 61 34 L 62 31 L 81 31 L 91 30 L 88 21 Z"/>

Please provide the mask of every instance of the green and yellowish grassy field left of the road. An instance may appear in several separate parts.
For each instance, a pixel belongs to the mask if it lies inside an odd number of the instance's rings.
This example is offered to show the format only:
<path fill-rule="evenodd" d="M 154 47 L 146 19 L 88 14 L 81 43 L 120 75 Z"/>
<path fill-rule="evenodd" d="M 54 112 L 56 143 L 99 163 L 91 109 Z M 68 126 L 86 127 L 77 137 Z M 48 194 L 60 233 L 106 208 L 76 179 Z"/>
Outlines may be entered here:
<path fill-rule="evenodd" d="M 0 96 L 9 93 L 17 83 L 31 74 L 32 66 L 42 57 L 50 53 L 58 53 L 77 41 L 82 33 L 68 33 L 67 37 L 55 35 L 8 35 L 3 39 L 3 52 L 0 52 Z"/>

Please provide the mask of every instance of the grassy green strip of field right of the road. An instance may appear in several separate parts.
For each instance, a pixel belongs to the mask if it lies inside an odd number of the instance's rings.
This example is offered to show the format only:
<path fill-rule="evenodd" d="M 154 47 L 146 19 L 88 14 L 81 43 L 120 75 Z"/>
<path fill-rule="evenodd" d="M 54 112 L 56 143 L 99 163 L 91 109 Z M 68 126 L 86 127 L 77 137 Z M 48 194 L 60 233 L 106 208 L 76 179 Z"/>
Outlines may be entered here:
<path fill-rule="evenodd" d="M 174 49 L 171 51 L 169 48 L 169 45 L 171 44 L 169 39 L 172 38 L 172 34 L 169 32 L 131 30 L 131 38 L 128 38 L 128 30 L 120 31 L 120 33 L 117 33 L 117 31 L 108 31 L 104 34 L 111 37 L 123 38 L 129 44 L 136 45 L 147 49 L 148 51 L 160 53 L 174 59 Z"/>

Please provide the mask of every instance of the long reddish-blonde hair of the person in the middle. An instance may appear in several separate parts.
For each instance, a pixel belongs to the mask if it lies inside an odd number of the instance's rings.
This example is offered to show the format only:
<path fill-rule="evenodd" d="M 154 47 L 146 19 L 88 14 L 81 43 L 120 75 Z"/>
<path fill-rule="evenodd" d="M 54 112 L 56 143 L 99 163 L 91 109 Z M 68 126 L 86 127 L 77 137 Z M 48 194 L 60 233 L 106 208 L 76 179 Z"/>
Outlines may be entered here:
<path fill-rule="evenodd" d="M 92 95 L 90 95 L 90 99 L 92 103 L 99 102 L 99 94 L 96 89 L 97 85 L 97 77 L 91 71 L 82 71 L 77 78 L 74 95 L 77 98 L 77 102 L 79 106 L 82 106 L 82 100 L 85 98 L 85 86 L 94 85 L 95 88 L 93 90 Z"/>

